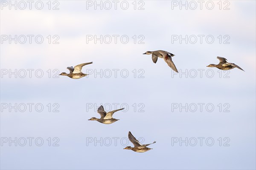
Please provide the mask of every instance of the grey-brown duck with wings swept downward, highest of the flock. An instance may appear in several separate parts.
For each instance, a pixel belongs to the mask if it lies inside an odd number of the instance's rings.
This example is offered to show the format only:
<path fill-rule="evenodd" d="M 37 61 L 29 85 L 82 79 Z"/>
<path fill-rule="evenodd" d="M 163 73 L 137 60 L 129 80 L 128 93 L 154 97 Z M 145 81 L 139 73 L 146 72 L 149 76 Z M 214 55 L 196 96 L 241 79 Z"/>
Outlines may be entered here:
<path fill-rule="evenodd" d="M 168 64 L 169 67 L 171 67 L 175 72 L 178 72 L 176 69 L 176 66 L 174 65 L 172 61 L 172 57 L 175 56 L 170 52 L 166 52 L 163 50 L 157 50 L 157 51 L 147 51 L 143 54 L 151 55 L 152 54 L 152 60 L 154 63 L 157 63 L 158 58 L 163 58 L 163 60 Z"/>

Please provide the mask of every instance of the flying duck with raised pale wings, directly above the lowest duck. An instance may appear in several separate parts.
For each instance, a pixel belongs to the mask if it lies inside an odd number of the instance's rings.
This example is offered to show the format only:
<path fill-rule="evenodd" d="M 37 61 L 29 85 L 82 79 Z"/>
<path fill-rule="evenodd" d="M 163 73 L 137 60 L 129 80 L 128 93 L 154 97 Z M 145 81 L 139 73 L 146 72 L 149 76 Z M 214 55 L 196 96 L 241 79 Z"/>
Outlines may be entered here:
<path fill-rule="evenodd" d="M 122 108 L 122 109 L 125 109 L 125 108 Z M 100 106 L 97 110 L 97 112 L 100 114 L 100 118 L 93 117 L 93 118 L 88 119 L 88 121 L 98 121 L 102 124 L 112 124 L 116 121 L 119 121 L 119 119 L 113 118 L 112 115 L 114 114 L 114 112 L 117 112 L 122 109 L 113 110 L 111 112 L 105 112 L 103 106 Z"/>

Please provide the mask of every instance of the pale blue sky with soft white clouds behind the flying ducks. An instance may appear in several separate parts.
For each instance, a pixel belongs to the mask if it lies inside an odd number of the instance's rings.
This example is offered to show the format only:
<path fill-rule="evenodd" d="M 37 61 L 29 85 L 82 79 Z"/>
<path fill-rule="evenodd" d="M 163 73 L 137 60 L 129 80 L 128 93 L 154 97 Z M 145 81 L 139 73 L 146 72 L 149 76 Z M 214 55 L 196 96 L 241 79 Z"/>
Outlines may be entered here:
<path fill-rule="evenodd" d="M 144 10 L 86 10 L 86 1 L 58 1 L 59 10 L 0 11 L 1 35 L 42 35 L 37 44 L 1 43 L 0 67 L 4 69 L 42 69 L 43 78 L 1 78 L 1 104 L 41 103 L 42 112 L 9 112 L 0 115 L 1 138 L 41 137 L 41 147 L 1 146 L 1 169 L 255 169 L 256 167 L 256 11 L 255 1 L 230 0 L 230 10 L 182 9 L 172 1 L 143 1 Z M 179 2 L 179 1 L 178 1 Z M 222 1 L 224 2 L 224 1 Z M 138 3 L 138 1 L 137 1 Z M 1 5 L 3 1 L 1 1 Z M 54 5 L 54 4 L 52 4 Z M 222 7 L 226 4 L 222 4 Z M 51 6 L 52 7 L 52 6 Z M 138 4 L 137 4 L 138 7 Z M 59 44 L 48 44 L 48 35 L 58 35 Z M 127 35 L 129 42 L 86 43 L 86 35 Z M 132 37 L 143 35 L 144 44 Z M 212 35 L 212 44 L 172 43 L 172 35 Z M 218 42 L 228 35 L 230 44 Z M 223 39 L 224 40 L 224 39 Z M 180 72 L 186 69 L 212 69 L 215 76 L 180 78 L 163 59 L 154 64 L 146 51 L 166 50 L 175 54 L 173 61 Z M 217 56 L 236 63 L 245 72 L 232 69 L 230 78 L 218 77 Z M 127 69 L 128 78 L 99 78 L 95 74 L 79 80 L 68 77 L 48 78 L 47 70 L 67 72 L 67 66 L 91 62 L 86 69 Z M 134 78 L 133 70 L 143 69 L 144 78 Z M 112 72 L 113 73 L 113 72 Z M 221 72 L 224 74 L 224 72 Z M 137 72 L 138 74 L 138 72 Z M 138 76 L 138 75 L 137 75 Z M 59 112 L 49 112 L 47 104 L 58 103 Z M 98 117 L 87 104 L 127 104 L 127 112 L 116 112 L 114 124 L 87 121 Z M 134 112 L 133 104 L 142 103 L 145 112 Z M 213 104 L 212 112 L 182 112 L 172 104 Z M 229 104 L 230 112 L 219 112 L 218 104 Z M 119 105 L 120 107 L 120 105 Z M 205 108 L 205 107 L 204 107 Z M 138 109 L 138 106 L 137 106 Z M 86 146 L 87 138 L 127 138 L 128 131 L 151 143 L 146 153 L 123 150 L 117 146 Z M 47 138 L 59 138 L 59 146 L 48 146 Z M 203 146 L 172 146 L 172 138 L 213 138 Z M 218 138 L 229 138 L 230 146 L 219 146 Z M 51 143 L 52 145 L 52 143 Z M 133 146 L 129 142 L 128 146 Z"/>

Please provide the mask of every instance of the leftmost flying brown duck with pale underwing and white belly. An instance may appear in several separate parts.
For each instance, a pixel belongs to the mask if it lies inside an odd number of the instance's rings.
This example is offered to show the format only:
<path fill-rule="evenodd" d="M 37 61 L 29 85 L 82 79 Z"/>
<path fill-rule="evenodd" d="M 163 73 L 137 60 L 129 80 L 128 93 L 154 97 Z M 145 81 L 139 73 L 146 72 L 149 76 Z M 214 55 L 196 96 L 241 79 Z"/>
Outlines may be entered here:
<path fill-rule="evenodd" d="M 90 62 L 90 63 L 82 63 L 82 64 L 79 64 L 77 66 L 75 66 L 75 68 L 73 66 L 71 67 L 67 67 L 67 69 L 69 69 L 70 73 L 67 74 L 65 72 L 62 72 L 60 75 L 66 75 L 70 78 L 74 78 L 74 79 L 79 79 L 79 78 L 82 78 L 84 76 L 87 76 L 87 74 L 84 74 L 81 72 L 81 69 L 83 66 L 87 65 L 87 64 L 92 64 L 93 62 Z"/>

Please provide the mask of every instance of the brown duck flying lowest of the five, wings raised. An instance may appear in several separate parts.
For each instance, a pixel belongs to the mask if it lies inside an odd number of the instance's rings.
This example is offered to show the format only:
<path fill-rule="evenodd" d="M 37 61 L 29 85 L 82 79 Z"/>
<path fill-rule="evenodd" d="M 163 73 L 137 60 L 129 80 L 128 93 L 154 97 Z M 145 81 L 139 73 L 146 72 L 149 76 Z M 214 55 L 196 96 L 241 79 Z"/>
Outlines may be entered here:
<path fill-rule="evenodd" d="M 150 144 L 140 144 L 140 142 L 131 134 L 130 131 L 128 133 L 128 138 L 131 141 L 131 143 L 134 144 L 134 147 L 128 146 L 128 147 L 125 147 L 124 150 L 133 150 L 134 152 L 142 153 L 152 149 L 147 147 Z M 156 143 L 156 141 L 154 141 L 152 144 L 154 143 Z"/>

